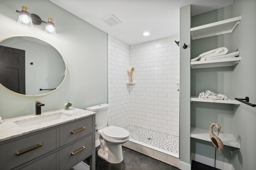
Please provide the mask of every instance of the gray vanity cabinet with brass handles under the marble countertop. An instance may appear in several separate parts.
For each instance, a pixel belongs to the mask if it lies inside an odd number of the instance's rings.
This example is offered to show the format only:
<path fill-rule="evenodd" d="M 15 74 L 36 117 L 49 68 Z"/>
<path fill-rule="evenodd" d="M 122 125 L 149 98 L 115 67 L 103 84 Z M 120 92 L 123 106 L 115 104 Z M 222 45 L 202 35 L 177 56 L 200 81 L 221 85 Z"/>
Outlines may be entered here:
<path fill-rule="evenodd" d="M 0 142 L 1 170 L 69 170 L 90 156 L 95 169 L 95 115 Z"/>

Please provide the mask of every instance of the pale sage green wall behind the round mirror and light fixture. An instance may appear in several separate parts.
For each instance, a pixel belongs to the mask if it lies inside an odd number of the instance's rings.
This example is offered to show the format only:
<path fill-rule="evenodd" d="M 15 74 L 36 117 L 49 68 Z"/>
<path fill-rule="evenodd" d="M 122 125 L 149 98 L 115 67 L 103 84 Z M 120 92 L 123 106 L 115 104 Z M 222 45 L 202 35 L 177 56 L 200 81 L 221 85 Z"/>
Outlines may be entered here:
<path fill-rule="evenodd" d="M 54 19 L 56 36 L 44 32 L 45 24 L 33 28 L 17 24 L 19 14 L 27 6 L 47 21 Z M 0 40 L 11 36 L 32 36 L 48 42 L 62 55 L 67 65 L 64 83 L 55 91 L 40 97 L 12 93 L 0 86 L 0 116 L 2 119 L 35 113 L 35 101 L 45 104 L 42 112 L 63 108 L 72 100 L 74 107 L 86 109 L 108 102 L 107 34 L 48 0 L 1 0 Z M 39 76 L 39 75 L 38 75 Z"/>

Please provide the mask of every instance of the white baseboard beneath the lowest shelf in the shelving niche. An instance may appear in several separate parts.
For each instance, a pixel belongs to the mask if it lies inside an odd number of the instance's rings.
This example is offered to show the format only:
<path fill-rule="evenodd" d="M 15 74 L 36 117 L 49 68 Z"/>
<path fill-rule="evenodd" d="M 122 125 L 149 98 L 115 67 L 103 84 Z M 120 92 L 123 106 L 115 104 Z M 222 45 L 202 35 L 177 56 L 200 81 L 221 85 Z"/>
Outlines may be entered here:
<path fill-rule="evenodd" d="M 214 159 L 212 159 L 212 158 L 208 158 L 206 156 L 191 153 L 191 159 L 196 162 L 200 162 L 202 164 L 206 164 L 206 165 L 214 167 Z M 232 164 L 228 164 L 226 162 L 222 162 L 219 160 L 216 160 L 216 168 L 218 168 L 220 170 L 234 170 L 234 167 Z"/>

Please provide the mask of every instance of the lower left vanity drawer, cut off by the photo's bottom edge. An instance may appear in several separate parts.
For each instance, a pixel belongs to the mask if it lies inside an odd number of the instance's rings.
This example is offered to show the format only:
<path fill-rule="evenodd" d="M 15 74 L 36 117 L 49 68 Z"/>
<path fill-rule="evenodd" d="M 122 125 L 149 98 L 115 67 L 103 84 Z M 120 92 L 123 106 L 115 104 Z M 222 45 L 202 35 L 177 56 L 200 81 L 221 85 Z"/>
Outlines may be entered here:
<path fill-rule="evenodd" d="M 56 170 L 56 153 L 30 164 L 21 170 Z"/>

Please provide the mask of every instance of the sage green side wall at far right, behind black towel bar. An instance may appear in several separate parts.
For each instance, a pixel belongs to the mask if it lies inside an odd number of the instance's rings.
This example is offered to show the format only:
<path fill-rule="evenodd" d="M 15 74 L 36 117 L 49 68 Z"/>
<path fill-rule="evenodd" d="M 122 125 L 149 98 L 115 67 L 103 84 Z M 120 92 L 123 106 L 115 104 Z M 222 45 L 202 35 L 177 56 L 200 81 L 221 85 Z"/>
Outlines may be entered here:
<path fill-rule="evenodd" d="M 242 16 L 233 34 L 233 49 L 239 49 L 242 60 L 233 73 L 233 93 L 237 98 L 248 96 L 256 104 L 256 0 L 236 0 L 233 15 Z M 256 107 L 244 103 L 235 110 L 233 134 L 241 148 L 233 153 L 235 170 L 256 167 Z"/>

